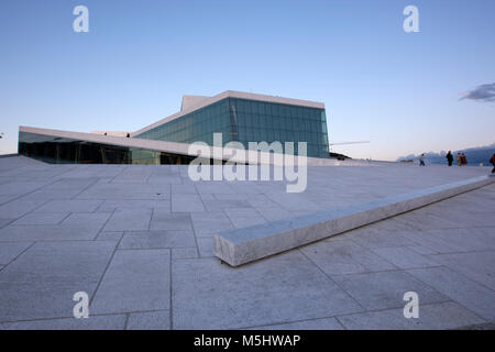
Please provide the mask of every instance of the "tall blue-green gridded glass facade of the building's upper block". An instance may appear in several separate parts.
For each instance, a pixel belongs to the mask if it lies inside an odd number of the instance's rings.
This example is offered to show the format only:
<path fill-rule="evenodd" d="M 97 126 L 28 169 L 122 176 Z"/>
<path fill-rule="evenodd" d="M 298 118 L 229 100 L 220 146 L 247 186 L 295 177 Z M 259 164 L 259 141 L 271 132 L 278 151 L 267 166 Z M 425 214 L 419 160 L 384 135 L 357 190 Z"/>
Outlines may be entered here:
<path fill-rule="evenodd" d="M 170 142 L 213 144 L 213 133 L 223 144 L 248 142 L 307 142 L 308 156 L 330 157 L 324 109 L 285 103 L 226 98 L 135 138 Z"/>

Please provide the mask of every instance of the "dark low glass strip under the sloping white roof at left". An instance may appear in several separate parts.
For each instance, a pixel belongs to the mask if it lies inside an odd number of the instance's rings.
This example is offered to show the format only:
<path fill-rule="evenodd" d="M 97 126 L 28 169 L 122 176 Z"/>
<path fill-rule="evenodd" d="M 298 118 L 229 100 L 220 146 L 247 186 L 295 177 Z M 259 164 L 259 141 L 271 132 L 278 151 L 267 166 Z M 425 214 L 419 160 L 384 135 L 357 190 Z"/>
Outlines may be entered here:
<path fill-rule="evenodd" d="M 189 164 L 193 156 L 19 132 L 19 154 L 52 164 Z"/>

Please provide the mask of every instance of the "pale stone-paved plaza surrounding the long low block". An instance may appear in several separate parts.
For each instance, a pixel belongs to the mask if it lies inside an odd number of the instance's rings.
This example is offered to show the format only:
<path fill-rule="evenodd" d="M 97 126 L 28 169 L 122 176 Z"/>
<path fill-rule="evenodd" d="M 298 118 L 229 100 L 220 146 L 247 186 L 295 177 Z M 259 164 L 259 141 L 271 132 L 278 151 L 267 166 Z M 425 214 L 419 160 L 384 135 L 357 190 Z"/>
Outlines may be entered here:
<path fill-rule="evenodd" d="M 193 183 L 186 166 L 0 158 L 0 329 L 446 329 L 495 320 L 495 185 L 239 268 L 212 234 L 487 173 L 314 167 Z M 86 292 L 90 318 L 74 319 Z M 403 295 L 419 295 L 405 319 Z"/>

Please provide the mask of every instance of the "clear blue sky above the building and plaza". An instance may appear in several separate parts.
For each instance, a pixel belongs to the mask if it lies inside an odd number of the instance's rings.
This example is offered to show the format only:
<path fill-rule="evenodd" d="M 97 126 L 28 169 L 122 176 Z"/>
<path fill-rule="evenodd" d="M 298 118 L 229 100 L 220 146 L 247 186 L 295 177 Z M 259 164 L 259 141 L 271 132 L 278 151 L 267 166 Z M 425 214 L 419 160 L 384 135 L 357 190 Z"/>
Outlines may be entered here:
<path fill-rule="evenodd" d="M 354 157 L 486 145 L 495 102 L 460 98 L 495 81 L 494 35 L 493 0 L 2 0 L 0 153 L 19 125 L 134 131 L 228 89 L 324 102 L 330 142 L 371 141 L 334 147 Z"/>

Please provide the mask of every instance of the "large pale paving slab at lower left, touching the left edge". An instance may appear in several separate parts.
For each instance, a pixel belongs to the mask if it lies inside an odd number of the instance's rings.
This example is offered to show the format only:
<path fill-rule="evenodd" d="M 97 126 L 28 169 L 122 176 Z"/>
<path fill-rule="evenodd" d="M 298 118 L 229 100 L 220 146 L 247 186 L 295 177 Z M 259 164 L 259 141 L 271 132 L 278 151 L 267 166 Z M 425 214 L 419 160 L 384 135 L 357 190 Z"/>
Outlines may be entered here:
<path fill-rule="evenodd" d="M 36 243 L 0 272 L 0 322 L 73 317 L 73 296 L 97 288 L 116 243 Z"/>

